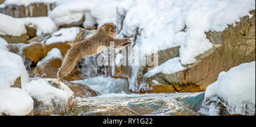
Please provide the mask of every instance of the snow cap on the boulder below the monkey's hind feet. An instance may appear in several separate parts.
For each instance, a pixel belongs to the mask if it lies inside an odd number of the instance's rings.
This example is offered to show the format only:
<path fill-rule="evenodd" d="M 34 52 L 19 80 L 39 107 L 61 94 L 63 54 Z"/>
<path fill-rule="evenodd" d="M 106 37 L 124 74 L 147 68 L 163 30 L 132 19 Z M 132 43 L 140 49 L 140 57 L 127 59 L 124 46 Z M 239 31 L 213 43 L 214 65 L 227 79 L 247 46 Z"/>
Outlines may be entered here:
<path fill-rule="evenodd" d="M 49 82 L 59 84 L 60 88 L 53 87 Z M 23 90 L 26 90 L 30 96 L 42 101 L 46 105 L 67 104 L 70 98 L 73 98 L 73 92 L 63 82 L 57 79 L 37 79 L 24 84 Z"/>

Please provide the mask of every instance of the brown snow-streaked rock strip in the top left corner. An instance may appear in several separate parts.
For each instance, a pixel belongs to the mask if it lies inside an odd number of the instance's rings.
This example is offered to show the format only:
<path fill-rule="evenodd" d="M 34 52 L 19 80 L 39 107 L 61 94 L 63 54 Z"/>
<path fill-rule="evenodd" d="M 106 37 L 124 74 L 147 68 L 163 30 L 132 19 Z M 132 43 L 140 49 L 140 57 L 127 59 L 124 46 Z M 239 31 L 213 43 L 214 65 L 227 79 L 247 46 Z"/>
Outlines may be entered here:
<path fill-rule="evenodd" d="M 14 18 L 48 16 L 48 12 L 55 7 L 55 3 L 31 3 L 31 5 L 8 5 L 0 8 L 0 13 Z"/>

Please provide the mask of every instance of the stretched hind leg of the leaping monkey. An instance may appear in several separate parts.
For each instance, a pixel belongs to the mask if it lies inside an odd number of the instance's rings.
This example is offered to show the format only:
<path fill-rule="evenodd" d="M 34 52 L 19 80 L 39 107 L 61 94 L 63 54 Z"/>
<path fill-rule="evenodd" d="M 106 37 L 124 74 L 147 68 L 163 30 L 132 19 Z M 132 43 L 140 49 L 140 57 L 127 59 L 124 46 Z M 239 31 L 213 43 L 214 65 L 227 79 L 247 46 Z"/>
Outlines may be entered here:
<path fill-rule="evenodd" d="M 74 69 L 80 58 L 81 56 L 74 50 L 68 51 L 64 58 L 63 64 L 57 73 L 57 77 L 61 82 L 63 82 L 63 78 Z"/>

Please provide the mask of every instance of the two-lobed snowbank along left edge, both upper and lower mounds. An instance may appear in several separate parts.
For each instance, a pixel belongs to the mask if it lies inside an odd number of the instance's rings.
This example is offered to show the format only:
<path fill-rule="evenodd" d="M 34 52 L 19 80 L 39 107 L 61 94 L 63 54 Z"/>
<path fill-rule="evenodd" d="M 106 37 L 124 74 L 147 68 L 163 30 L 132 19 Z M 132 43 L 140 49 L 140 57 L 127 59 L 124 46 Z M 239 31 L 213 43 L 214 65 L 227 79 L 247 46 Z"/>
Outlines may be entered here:
<path fill-rule="evenodd" d="M 0 49 L 0 61 L 0 115 L 27 115 L 32 111 L 34 101 L 26 91 L 11 87 L 19 77 L 22 84 L 29 81 L 22 58 Z"/>

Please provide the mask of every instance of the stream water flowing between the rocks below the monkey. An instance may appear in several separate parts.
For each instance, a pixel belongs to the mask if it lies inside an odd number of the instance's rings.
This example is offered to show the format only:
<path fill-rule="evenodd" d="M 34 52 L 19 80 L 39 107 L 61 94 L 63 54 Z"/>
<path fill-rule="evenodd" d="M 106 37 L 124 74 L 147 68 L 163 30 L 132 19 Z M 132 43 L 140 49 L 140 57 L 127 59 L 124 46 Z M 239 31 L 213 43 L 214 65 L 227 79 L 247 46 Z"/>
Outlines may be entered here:
<path fill-rule="evenodd" d="M 132 94 L 124 79 L 95 77 L 75 83 L 86 84 L 100 96 L 76 98 L 78 105 L 68 115 L 201 115 L 184 102 L 196 93 Z"/>

